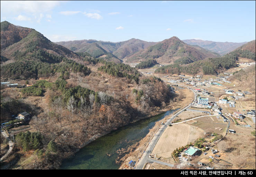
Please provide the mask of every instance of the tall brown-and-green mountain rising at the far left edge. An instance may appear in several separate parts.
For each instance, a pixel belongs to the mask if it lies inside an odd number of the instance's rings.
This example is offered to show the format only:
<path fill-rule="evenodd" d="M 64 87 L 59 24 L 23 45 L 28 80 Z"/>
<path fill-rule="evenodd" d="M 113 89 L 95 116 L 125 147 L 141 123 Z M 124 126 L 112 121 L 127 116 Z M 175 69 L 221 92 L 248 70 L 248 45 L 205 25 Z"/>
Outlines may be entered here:
<path fill-rule="evenodd" d="M 12 62 L 38 60 L 56 63 L 61 61 L 60 57 L 77 61 L 81 59 L 73 51 L 51 42 L 36 30 L 15 26 L 6 21 L 1 22 L 1 46 L 1 58 L 5 57 Z"/>

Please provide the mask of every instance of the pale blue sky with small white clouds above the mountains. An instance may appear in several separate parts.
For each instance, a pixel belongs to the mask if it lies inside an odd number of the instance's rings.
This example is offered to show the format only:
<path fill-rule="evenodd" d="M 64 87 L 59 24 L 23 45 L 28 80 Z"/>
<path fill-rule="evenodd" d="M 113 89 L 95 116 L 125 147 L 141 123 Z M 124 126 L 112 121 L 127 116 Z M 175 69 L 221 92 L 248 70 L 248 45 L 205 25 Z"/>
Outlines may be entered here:
<path fill-rule="evenodd" d="M 34 28 L 53 42 L 248 42 L 256 33 L 255 1 L 1 1 L 0 13 L 1 22 Z"/>

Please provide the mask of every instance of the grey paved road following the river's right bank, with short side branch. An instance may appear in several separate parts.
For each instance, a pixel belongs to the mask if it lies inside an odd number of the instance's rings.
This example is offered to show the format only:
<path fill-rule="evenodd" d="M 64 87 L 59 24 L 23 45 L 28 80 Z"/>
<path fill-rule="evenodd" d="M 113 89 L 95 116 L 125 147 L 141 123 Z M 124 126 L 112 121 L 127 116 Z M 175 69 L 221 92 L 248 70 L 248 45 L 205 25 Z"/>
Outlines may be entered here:
<path fill-rule="evenodd" d="M 182 86 L 182 85 L 180 85 Z M 183 87 L 186 87 L 186 86 L 183 86 Z M 196 92 L 189 88 L 189 87 L 186 87 L 190 90 L 193 91 L 194 93 L 194 101 L 196 101 L 197 99 L 197 94 Z M 157 133 L 155 134 L 155 136 L 152 138 L 152 140 L 149 142 L 146 150 L 145 150 L 145 153 L 141 156 L 140 160 L 138 161 L 138 163 L 136 164 L 135 166 L 135 169 L 143 169 L 144 167 L 144 164 L 145 163 L 153 163 L 153 162 L 156 162 L 156 163 L 159 163 L 159 164 L 163 164 L 163 165 L 167 165 L 167 166 L 171 166 L 173 167 L 174 165 L 173 164 L 169 164 L 169 163 L 164 163 L 164 162 L 161 162 L 159 160 L 155 160 L 153 159 L 152 157 L 150 157 L 150 152 L 152 152 L 152 150 L 154 149 L 158 139 L 161 137 L 162 133 L 164 132 L 164 130 L 166 129 L 166 127 L 171 124 L 172 120 L 176 118 L 176 116 L 178 116 L 179 114 L 181 114 L 185 109 L 188 109 L 190 108 L 190 105 L 189 106 L 186 106 L 185 108 L 183 108 L 182 110 L 180 110 L 179 112 L 177 112 L 175 115 L 173 115 L 171 118 L 169 118 L 165 125 L 162 125 L 159 130 L 157 131 Z"/>

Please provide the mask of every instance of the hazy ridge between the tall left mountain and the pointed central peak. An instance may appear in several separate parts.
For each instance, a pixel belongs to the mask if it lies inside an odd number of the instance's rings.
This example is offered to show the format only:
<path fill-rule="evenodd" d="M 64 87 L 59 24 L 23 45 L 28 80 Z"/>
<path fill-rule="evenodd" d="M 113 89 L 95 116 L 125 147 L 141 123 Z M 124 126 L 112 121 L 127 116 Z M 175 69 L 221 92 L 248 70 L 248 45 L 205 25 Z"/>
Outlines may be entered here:
<path fill-rule="evenodd" d="M 145 49 L 156 42 L 146 42 L 139 39 L 130 39 L 122 42 L 105 42 L 97 40 L 75 40 L 56 42 L 74 52 L 88 52 L 93 57 L 103 56 L 107 52 L 113 53 L 117 58 L 123 59 L 142 49 Z"/>

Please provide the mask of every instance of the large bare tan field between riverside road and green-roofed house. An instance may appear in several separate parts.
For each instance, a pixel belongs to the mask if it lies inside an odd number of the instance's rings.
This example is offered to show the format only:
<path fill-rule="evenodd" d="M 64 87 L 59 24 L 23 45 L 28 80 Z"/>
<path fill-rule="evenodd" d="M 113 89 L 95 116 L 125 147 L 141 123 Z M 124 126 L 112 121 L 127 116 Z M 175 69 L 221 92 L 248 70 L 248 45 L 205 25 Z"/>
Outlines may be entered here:
<path fill-rule="evenodd" d="M 171 158 L 172 152 L 176 148 L 194 142 L 202 136 L 204 136 L 202 129 L 188 124 L 168 126 L 159 138 L 152 154 L 156 154 L 158 157 Z"/>

